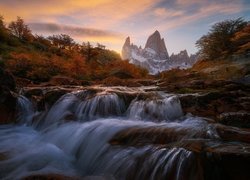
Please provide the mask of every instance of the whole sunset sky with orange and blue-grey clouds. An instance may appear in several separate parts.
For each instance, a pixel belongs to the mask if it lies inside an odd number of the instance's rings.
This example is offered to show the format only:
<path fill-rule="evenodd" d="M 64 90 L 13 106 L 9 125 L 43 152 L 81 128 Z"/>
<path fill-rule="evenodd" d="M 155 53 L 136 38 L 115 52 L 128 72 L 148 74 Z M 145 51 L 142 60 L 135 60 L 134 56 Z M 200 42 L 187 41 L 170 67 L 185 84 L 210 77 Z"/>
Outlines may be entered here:
<path fill-rule="evenodd" d="M 68 34 L 78 43 L 101 43 L 121 52 L 125 38 L 145 46 L 155 30 L 168 53 L 187 49 L 211 26 L 242 17 L 250 21 L 249 0 L 0 0 L 0 15 L 9 23 L 20 16 L 34 34 Z"/>

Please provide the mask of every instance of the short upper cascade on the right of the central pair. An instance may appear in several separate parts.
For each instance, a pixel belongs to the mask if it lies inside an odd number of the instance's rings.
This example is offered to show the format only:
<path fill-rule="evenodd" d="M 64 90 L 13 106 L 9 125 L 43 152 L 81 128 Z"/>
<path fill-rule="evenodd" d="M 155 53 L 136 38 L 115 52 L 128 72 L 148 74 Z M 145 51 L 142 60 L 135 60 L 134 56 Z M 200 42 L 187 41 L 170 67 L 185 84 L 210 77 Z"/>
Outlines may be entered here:
<path fill-rule="evenodd" d="M 161 99 L 134 100 L 128 109 L 128 117 L 136 120 L 171 121 L 183 116 L 176 96 Z"/>

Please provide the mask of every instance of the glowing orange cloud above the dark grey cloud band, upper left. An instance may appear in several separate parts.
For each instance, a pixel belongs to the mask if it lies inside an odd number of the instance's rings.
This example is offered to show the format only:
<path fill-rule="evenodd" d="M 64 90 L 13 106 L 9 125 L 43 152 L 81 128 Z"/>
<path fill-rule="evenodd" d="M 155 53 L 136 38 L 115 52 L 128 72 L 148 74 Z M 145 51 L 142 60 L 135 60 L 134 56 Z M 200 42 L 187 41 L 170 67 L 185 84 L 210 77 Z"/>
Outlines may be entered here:
<path fill-rule="evenodd" d="M 101 28 L 149 11 L 160 0 L 1 0 L 5 18 L 21 16 L 28 22 L 58 22 L 58 17 L 73 17 L 81 25 L 96 25 Z M 72 23 L 67 21 L 66 23 Z"/>

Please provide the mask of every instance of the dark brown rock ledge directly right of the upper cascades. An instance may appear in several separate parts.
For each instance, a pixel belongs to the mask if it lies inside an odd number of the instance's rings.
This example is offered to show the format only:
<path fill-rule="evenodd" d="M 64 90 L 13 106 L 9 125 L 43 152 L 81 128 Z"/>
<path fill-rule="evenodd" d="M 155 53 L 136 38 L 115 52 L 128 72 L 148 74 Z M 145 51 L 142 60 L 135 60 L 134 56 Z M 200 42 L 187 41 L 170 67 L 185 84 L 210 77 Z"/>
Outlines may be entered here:
<path fill-rule="evenodd" d="M 185 113 L 217 119 L 227 112 L 248 111 L 250 99 L 247 91 L 214 91 L 203 94 L 180 95 Z"/>

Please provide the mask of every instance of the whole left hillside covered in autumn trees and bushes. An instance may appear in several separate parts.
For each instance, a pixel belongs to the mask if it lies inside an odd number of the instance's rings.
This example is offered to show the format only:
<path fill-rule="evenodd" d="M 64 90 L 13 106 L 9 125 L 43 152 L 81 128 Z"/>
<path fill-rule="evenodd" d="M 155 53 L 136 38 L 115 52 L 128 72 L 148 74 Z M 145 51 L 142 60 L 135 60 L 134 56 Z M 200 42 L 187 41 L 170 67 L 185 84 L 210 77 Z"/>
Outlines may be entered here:
<path fill-rule="evenodd" d="M 107 78 L 119 81 L 147 76 L 146 70 L 121 60 L 104 45 L 79 44 L 66 34 L 34 35 L 19 17 L 8 27 L 0 18 L 0 39 L 0 66 L 21 86 L 51 79 L 52 83 L 60 79 L 61 84 L 85 85 Z"/>

